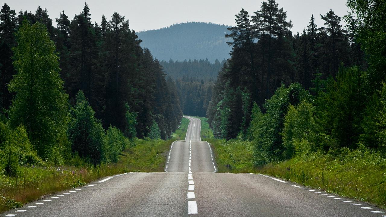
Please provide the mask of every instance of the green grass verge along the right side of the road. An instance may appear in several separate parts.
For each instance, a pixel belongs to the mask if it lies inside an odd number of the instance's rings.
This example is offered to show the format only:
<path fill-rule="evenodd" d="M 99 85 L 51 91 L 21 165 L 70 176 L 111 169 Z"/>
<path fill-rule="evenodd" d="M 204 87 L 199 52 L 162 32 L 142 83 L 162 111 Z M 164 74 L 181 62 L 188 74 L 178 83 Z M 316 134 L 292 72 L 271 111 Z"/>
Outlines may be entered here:
<path fill-rule="evenodd" d="M 204 126 L 204 121 L 202 126 Z M 203 131 L 201 129 L 201 131 Z M 253 164 L 253 142 L 207 138 L 218 172 L 262 173 L 386 208 L 386 158 L 364 147 L 297 156 L 260 168 Z"/>

